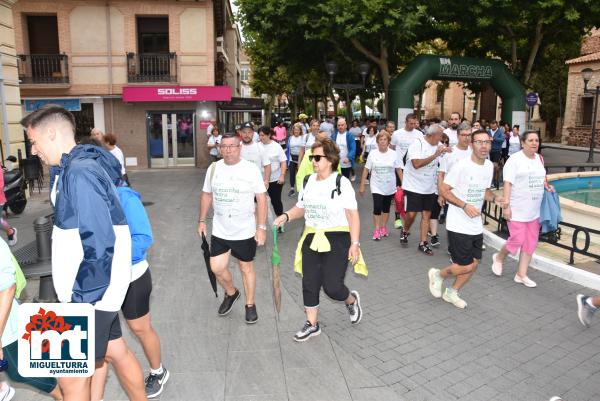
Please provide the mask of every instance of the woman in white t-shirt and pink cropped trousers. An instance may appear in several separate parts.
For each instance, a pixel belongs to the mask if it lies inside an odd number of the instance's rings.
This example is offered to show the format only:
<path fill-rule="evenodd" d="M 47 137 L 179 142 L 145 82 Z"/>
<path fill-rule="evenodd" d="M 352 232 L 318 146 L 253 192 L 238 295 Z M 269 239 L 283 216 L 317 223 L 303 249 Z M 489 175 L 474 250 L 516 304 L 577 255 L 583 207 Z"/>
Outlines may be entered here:
<path fill-rule="evenodd" d="M 510 235 L 500 252 L 492 255 L 492 271 L 502 275 L 502 265 L 509 253 L 519 249 L 519 267 L 514 281 L 527 287 L 537 284 L 527 276 L 531 256 L 537 247 L 540 232 L 540 207 L 544 188 L 553 192 L 548 184 L 542 156 L 537 153 L 540 138 L 537 131 L 526 131 L 521 137 L 523 149 L 508 158 L 504 165 L 503 216 L 508 222 Z"/>

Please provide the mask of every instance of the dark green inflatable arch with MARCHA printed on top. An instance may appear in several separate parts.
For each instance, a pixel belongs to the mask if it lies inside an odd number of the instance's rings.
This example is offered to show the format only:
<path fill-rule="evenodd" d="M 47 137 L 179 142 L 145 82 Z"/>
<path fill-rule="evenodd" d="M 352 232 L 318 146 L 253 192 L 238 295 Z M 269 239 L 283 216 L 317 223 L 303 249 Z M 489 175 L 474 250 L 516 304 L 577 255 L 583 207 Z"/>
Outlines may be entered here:
<path fill-rule="evenodd" d="M 502 120 L 525 127 L 525 89 L 498 60 L 420 55 L 390 83 L 390 120 L 404 126 L 414 94 L 428 80 L 487 81 L 502 98 Z"/>

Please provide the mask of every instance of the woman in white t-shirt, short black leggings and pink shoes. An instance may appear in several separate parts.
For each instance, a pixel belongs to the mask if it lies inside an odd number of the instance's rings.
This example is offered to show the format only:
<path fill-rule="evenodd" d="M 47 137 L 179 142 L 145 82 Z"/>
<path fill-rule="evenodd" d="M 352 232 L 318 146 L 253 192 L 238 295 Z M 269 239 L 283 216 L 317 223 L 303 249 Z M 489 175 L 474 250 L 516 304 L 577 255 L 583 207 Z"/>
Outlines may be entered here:
<path fill-rule="evenodd" d="M 375 226 L 373 240 L 379 241 L 382 237 L 390 235 L 387 223 L 392 199 L 396 193 L 396 176 L 400 176 L 401 164 L 396 157 L 396 152 L 390 149 L 390 140 L 392 139 L 390 133 L 382 130 L 376 138 L 377 149 L 369 152 L 358 192 L 361 196 L 364 195 L 367 176 L 370 174 L 369 183 L 373 196 L 373 224 Z"/>

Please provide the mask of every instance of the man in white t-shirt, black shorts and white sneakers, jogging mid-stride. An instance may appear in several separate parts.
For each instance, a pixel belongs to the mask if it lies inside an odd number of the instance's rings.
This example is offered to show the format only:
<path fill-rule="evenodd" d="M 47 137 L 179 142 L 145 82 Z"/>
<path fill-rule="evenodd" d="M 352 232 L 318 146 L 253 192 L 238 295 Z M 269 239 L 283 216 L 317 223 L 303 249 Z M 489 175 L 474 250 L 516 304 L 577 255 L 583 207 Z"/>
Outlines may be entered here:
<path fill-rule="evenodd" d="M 441 195 L 450 203 L 446 229 L 452 264 L 442 270 L 429 269 L 429 291 L 434 297 L 441 297 L 461 309 L 467 303 L 459 297 L 458 290 L 469 281 L 481 260 L 481 206 L 484 200 L 496 201 L 490 190 L 494 166 L 487 160 L 491 145 L 492 140 L 486 131 L 473 132 L 471 157 L 456 163 L 440 185 Z M 503 200 L 498 199 L 498 202 Z M 444 279 L 449 277 L 455 278 L 454 284 L 442 293 Z"/>

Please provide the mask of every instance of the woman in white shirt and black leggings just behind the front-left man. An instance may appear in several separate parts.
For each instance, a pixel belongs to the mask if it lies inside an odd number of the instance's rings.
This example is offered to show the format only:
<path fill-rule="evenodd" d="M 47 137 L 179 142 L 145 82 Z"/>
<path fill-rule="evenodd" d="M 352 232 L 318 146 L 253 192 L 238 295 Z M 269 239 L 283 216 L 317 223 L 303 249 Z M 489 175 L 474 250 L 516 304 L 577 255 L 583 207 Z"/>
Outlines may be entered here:
<path fill-rule="evenodd" d="M 262 146 L 265 155 L 271 161 L 271 175 L 269 177 L 269 187 L 267 192 L 269 193 L 269 198 L 271 198 L 273 211 L 276 216 L 279 216 L 283 213 L 281 189 L 285 183 L 287 157 L 285 156 L 285 152 L 281 145 L 272 139 L 275 132 L 271 128 L 260 127 L 258 135 L 260 138 L 259 146 Z"/>

